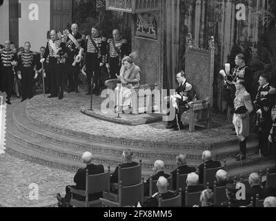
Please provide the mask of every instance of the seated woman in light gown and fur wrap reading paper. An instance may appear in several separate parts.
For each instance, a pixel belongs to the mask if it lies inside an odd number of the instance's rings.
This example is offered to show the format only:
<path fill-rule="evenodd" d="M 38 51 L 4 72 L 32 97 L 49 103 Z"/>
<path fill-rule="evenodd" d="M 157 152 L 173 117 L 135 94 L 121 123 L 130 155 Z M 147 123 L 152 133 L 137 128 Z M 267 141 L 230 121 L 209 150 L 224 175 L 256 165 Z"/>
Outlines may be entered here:
<path fill-rule="evenodd" d="M 139 86 L 141 70 L 133 62 L 132 56 L 126 56 L 121 61 L 120 75 L 117 75 L 120 84 L 115 88 L 115 111 L 126 111 L 132 108 L 131 96 L 134 88 Z"/>

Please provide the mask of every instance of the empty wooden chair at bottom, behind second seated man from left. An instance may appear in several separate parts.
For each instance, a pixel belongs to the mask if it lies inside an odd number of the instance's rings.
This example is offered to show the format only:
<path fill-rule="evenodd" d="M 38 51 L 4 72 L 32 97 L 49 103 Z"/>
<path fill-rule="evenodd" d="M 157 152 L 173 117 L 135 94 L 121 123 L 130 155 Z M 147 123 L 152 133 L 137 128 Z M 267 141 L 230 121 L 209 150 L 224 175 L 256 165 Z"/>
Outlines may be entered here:
<path fill-rule="evenodd" d="M 108 200 L 105 198 L 99 198 L 101 203 L 110 207 L 123 207 L 123 206 L 135 206 L 140 202 L 144 202 L 144 182 L 143 180 L 139 184 L 132 186 L 122 186 L 119 183 L 118 202 Z"/>

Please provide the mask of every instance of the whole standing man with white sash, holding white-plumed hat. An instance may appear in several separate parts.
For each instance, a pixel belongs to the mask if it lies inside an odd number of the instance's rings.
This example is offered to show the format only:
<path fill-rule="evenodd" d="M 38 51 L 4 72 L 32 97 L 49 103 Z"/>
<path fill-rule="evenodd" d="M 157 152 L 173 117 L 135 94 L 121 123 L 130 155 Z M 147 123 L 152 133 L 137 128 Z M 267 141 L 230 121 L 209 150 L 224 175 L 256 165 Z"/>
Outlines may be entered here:
<path fill-rule="evenodd" d="M 85 36 L 79 34 L 77 23 L 73 23 L 71 26 L 71 32 L 68 33 L 66 39 L 66 74 L 68 75 L 68 93 L 75 91 L 79 93 L 78 90 L 78 75 L 80 71 L 80 61 L 76 64 L 75 59 L 79 55 L 81 48 L 85 48 Z"/>

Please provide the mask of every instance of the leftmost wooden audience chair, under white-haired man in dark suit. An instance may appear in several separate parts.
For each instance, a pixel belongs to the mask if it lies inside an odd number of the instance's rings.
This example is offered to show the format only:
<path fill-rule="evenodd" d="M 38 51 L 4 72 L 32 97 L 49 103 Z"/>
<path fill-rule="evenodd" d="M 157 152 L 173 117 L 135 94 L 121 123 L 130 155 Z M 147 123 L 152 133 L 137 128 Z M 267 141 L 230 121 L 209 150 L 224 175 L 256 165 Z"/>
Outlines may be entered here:
<path fill-rule="evenodd" d="M 89 175 L 86 170 L 86 190 L 73 189 L 68 186 L 71 193 L 71 200 L 68 202 L 70 206 L 77 207 L 101 207 L 101 200 L 88 201 L 88 195 L 92 193 L 100 193 L 109 191 L 110 189 L 110 167 L 106 173 Z M 74 194 L 81 195 L 86 201 L 80 201 L 73 198 Z"/>

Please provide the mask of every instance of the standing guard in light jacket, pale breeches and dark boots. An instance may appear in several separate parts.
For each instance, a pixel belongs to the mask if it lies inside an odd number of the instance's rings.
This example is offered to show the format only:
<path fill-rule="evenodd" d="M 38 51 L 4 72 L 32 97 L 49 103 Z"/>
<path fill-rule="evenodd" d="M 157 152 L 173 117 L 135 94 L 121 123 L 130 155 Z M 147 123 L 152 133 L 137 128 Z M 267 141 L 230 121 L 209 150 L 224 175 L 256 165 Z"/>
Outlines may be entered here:
<path fill-rule="evenodd" d="M 233 124 L 239 140 L 239 154 L 235 158 L 237 160 L 245 160 L 246 138 L 249 135 L 250 113 L 253 111 L 253 105 L 243 79 L 239 79 L 236 82 L 234 110 Z"/>

